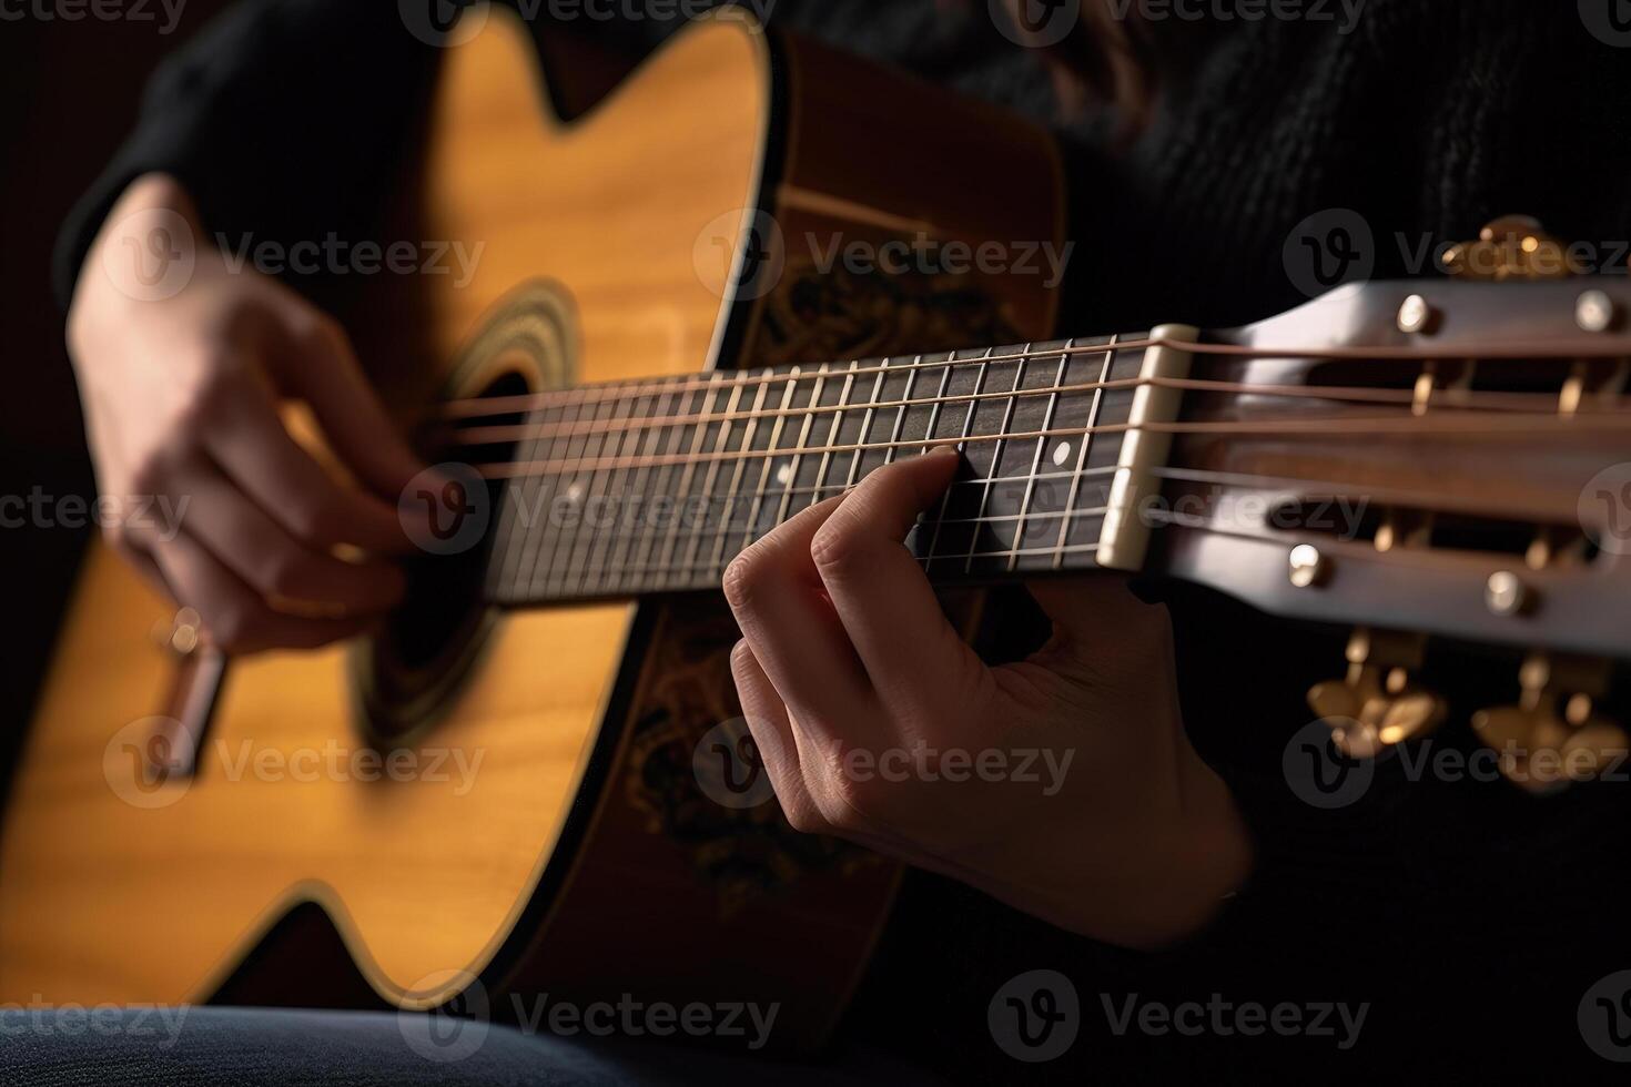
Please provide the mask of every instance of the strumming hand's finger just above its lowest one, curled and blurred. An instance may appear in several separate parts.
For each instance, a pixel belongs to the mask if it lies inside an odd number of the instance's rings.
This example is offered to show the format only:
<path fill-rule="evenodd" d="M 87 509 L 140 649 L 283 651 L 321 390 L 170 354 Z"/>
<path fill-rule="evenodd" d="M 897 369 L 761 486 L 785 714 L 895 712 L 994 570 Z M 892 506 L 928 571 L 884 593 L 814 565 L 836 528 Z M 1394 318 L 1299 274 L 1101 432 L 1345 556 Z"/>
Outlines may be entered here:
<path fill-rule="evenodd" d="M 191 461 L 176 477 L 191 499 L 186 528 L 263 598 L 336 614 L 380 614 L 401 600 L 403 574 L 383 562 L 344 562 L 290 536 L 214 464 Z"/>

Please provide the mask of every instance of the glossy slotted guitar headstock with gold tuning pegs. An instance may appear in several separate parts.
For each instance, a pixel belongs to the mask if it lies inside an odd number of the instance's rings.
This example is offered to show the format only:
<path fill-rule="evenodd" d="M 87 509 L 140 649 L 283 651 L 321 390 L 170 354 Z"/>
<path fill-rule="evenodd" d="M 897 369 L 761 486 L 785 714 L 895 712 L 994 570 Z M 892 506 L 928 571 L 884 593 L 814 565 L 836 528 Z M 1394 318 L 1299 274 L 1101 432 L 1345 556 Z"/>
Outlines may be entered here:
<path fill-rule="evenodd" d="M 1600 662 L 1631 660 L 1631 284 L 1562 257 L 1501 220 L 1450 279 L 1344 287 L 1192 355 L 1153 561 L 1354 627 L 1310 693 L 1354 755 L 1443 717 L 1412 681 L 1429 637 L 1528 655 L 1486 738 L 1624 746 L 1593 707 Z"/>

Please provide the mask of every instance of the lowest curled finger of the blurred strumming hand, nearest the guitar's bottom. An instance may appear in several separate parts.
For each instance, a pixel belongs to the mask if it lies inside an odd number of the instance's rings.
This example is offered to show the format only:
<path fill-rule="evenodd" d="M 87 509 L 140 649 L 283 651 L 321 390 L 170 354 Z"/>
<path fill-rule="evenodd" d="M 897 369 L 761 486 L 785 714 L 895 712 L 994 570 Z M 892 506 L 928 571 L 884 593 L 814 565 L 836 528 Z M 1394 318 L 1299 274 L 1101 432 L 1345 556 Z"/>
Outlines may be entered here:
<path fill-rule="evenodd" d="M 369 626 L 362 618 L 302 619 L 272 611 L 186 531 L 171 539 L 150 539 L 147 546 L 176 601 L 197 611 L 209 640 L 230 654 L 315 649 Z"/>

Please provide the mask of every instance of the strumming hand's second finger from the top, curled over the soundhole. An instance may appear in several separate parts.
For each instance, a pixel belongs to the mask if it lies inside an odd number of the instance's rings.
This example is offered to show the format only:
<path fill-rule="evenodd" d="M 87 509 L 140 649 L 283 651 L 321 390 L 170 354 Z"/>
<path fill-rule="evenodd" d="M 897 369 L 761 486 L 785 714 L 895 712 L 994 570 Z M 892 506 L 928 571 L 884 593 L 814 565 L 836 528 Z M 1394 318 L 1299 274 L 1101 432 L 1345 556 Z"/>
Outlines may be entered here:
<path fill-rule="evenodd" d="M 354 544 L 408 554 L 413 541 L 393 504 L 343 487 L 289 437 L 271 389 L 240 386 L 207 419 L 204 445 L 215 463 L 272 520 L 310 548 Z"/>

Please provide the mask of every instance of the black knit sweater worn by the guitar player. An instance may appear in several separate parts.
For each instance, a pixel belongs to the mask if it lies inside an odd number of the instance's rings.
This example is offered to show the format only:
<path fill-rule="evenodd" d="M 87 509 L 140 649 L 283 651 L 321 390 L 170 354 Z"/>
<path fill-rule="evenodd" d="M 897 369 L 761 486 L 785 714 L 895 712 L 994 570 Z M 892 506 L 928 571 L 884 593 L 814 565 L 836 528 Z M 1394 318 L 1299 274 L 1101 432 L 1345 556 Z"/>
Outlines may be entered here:
<path fill-rule="evenodd" d="M 995 33 L 985 3 L 781 0 L 771 11 L 778 26 L 1060 130 L 1076 241 L 1065 334 L 1227 326 L 1288 308 L 1306 297 L 1288 240 L 1300 253 L 1298 225 L 1349 212 L 1346 222 L 1357 217 L 1370 233 L 1377 277 L 1430 274 L 1424 249 L 1510 212 L 1593 243 L 1618 264 L 1607 271 L 1624 271 L 1615 240 L 1631 236 L 1631 47 L 1593 34 L 1562 0 L 1368 0 L 1352 33 L 1341 33 L 1336 3 L 1324 8 L 1334 20 L 1161 28 L 1191 47 L 1166 73 L 1153 124 L 1120 150 L 1106 111 L 1059 122 L 1047 73 Z M 641 51 L 669 29 L 641 21 L 599 33 Z M 135 134 L 64 231 L 62 297 L 108 205 L 144 171 L 179 176 L 210 230 L 369 236 L 432 52 L 403 33 L 395 5 L 240 7 L 153 80 Z M 344 311 L 343 282 L 295 282 Z M 1631 968 L 1621 875 L 1631 786 L 1535 802 L 1504 782 L 1406 781 L 1395 759 L 1360 803 L 1302 803 L 1280 759 L 1310 717 L 1302 691 L 1342 670 L 1341 634 L 1287 637 L 1209 593 L 1163 592 L 1187 727 L 1259 841 L 1254 883 L 1191 945 L 1135 955 L 915 878 L 845 1041 L 985 1082 L 1611 1076 L 1577 1014 L 1592 983 Z M 1430 668 L 1455 702 L 1456 724 L 1439 743 L 1473 750 L 1460 722 L 1512 701 L 1515 670 L 1437 657 Z M 1080 996 L 1078 1040 L 1044 1064 L 1014 1061 L 987 1022 L 993 994 L 1029 970 L 1065 973 Z M 1290 1002 L 1305 1022 L 1323 1002 L 1368 1012 L 1347 1050 L 1334 1012 L 1336 1036 L 1248 1035 L 1212 1019 L 1194 1035 L 1117 1033 L 1134 994 L 1169 1006 L 1207 1006 L 1213 994 L 1233 1006 Z"/>

